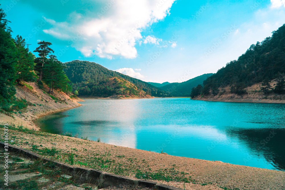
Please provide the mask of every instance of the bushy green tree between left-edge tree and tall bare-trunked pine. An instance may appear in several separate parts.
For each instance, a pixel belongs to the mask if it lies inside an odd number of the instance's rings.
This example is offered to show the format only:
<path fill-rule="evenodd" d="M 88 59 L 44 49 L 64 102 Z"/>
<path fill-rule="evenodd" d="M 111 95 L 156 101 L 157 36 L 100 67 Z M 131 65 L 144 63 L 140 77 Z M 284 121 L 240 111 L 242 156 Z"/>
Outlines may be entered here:
<path fill-rule="evenodd" d="M 25 39 L 17 35 L 14 39 L 17 48 L 17 66 L 16 66 L 16 81 L 20 84 L 21 81 L 34 82 L 34 55 L 25 48 Z"/>

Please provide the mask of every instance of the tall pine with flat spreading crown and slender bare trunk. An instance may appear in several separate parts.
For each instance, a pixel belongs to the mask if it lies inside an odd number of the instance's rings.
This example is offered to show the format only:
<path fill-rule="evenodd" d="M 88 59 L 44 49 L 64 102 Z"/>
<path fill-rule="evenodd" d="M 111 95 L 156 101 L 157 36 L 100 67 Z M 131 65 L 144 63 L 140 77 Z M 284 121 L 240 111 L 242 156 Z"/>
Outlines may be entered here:
<path fill-rule="evenodd" d="M 34 52 L 38 52 L 39 57 L 36 58 L 34 62 L 36 63 L 35 70 L 39 71 L 40 73 L 38 81 L 41 81 L 44 64 L 48 62 L 48 56 L 50 55 L 51 52 L 54 53 L 54 50 L 48 47 L 52 45 L 52 43 L 50 42 L 42 41 L 42 42 L 38 42 L 38 45 L 40 46 L 38 46 L 36 50 L 34 50 Z"/>

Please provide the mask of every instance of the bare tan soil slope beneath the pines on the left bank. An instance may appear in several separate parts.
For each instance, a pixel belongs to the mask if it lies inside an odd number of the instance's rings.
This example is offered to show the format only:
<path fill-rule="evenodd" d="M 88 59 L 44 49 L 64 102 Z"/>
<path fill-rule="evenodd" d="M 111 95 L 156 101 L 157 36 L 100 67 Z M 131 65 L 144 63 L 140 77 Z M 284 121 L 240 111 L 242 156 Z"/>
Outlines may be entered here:
<path fill-rule="evenodd" d="M 48 87 L 44 85 L 44 89 L 39 89 L 36 83 L 26 83 L 27 85 L 16 86 L 16 97 L 19 99 L 25 99 L 32 105 L 28 106 L 26 110 L 21 113 L 12 113 L 11 117 L 3 113 L 0 113 L 0 123 L 13 123 L 15 125 L 23 126 L 25 128 L 33 128 L 38 130 L 39 128 L 33 123 L 37 118 L 50 113 L 63 111 L 79 107 L 81 104 L 77 101 L 83 101 L 81 99 L 72 99 L 63 92 L 54 90 L 54 94 L 48 94 Z"/>

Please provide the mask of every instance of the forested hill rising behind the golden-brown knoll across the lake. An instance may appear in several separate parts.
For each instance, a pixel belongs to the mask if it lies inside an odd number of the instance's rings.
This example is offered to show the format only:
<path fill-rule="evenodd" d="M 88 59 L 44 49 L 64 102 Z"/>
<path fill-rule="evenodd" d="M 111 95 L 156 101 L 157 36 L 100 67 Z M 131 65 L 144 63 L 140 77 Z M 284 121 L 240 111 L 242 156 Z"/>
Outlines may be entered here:
<path fill-rule="evenodd" d="M 74 83 L 73 89 L 77 90 L 79 95 L 95 95 L 94 92 L 99 88 L 102 93 L 106 91 L 105 95 L 101 93 L 102 96 L 109 96 L 110 94 L 107 91 L 109 91 L 110 87 L 106 86 L 105 81 L 111 77 L 118 77 L 135 84 L 136 87 L 149 95 L 158 97 L 168 96 L 163 90 L 147 82 L 109 70 L 94 62 L 74 60 L 64 63 L 64 66 L 66 67 L 64 70 L 66 75 Z"/>

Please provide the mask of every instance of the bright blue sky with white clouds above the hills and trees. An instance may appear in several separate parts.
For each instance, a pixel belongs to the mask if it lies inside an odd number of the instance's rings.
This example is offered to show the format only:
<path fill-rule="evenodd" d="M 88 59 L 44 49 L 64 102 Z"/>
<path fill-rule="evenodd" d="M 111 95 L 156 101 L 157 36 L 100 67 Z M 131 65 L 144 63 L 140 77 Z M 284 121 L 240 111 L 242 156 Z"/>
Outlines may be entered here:
<path fill-rule="evenodd" d="M 87 60 L 152 82 L 215 73 L 285 23 L 285 0 L 0 0 L 13 37 L 52 43 L 61 62 Z"/>

